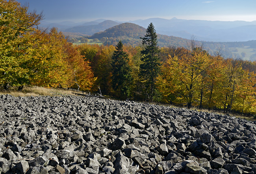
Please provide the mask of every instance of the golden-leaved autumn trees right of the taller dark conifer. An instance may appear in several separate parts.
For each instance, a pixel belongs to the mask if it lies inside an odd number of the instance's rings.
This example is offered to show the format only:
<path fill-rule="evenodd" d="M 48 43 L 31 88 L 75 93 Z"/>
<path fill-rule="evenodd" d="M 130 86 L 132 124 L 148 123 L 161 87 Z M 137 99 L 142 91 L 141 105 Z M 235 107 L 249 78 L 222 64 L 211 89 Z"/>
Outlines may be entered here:
<path fill-rule="evenodd" d="M 246 66 L 249 62 L 210 56 L 200 47 L 181 56 L 169 51 L 157 82 L 165 102 L 241 114 L 255 112 L 256 79 L 254 70 Z"/>

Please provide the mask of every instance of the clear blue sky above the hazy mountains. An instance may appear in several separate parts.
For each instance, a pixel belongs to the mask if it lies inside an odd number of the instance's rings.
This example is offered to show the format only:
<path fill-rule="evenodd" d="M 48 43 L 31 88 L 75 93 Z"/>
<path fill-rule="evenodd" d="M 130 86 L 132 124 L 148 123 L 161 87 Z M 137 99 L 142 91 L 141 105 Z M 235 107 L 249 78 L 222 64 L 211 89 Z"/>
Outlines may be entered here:
<path fill-rule="evenodd" d="M 256 20 L 256 0 L 17 0 L 46 22 L 163 18 Z"/>

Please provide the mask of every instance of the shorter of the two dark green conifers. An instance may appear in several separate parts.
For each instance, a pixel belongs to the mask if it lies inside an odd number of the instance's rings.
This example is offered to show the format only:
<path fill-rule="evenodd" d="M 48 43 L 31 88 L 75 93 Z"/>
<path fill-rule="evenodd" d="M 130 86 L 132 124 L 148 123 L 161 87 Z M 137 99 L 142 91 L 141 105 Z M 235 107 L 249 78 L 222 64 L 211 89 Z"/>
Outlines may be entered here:
<path fill-rule="evenodd" d="M 127 99 L 130 96 L 132 69 L 128 64 L 128 54 L 123 51 L 122 41 L 119 41 L 115 48 L 112 56 L 112 85 L 117 97 Z"/>

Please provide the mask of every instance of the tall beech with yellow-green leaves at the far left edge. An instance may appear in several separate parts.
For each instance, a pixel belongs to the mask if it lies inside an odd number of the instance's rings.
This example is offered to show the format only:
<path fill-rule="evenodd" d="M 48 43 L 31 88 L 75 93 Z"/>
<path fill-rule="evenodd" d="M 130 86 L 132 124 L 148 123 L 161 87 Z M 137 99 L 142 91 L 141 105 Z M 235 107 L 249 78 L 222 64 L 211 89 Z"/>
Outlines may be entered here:
<path fill-rule="evenodd" d="M 27 64 L 33 59 L 28 54 L 39 39 L 34 32 L 42 18 L 15 0 L 0 0 L 0 84 L 5 89 L 30 83 Z"/>

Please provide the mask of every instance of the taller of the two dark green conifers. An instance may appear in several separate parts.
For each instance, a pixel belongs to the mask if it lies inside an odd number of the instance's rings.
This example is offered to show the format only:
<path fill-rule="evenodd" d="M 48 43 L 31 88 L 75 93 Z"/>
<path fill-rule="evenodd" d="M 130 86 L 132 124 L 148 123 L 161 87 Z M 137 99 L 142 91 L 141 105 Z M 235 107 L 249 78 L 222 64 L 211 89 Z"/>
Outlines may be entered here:
<path fill-rule="evenodd" d="M 142 39 L 143 50 L 141 51 L 140 76 L 145 85 L 146 93 L 151 102 L 158 100 L 158 91 L 156 89 L 156 78 L 160 73 L 160 60 L 157 46 L 156 30 L 152 22 L 148 25 L 147 34 Z"/>

